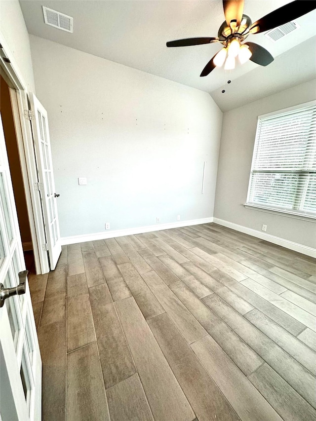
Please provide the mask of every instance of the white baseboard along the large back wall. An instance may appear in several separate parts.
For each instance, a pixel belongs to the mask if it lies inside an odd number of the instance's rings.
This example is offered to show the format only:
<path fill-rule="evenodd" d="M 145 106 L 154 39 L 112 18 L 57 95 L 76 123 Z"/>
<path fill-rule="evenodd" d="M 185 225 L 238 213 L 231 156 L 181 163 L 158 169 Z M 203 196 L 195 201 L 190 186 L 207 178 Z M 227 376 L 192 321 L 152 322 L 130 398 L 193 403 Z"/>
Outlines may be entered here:
<path fill-rule="evenodd" d="M 125 230 L 113 230 L 96 232 L 94 234 L 72 235 L 61 237 L 61 245 L 83 243 L 85 241 L 104 240 L 106 238 L 122 237 L 123 235 L 142 234 L 143 232 L 169 230 L 170 228 L 189 227 L 191 225 L 208 224 L 213 218 L 192 219 L 190 221 L 170 222 L 169 224 L 148 225 L 147 227 L 127 228 Z"/>

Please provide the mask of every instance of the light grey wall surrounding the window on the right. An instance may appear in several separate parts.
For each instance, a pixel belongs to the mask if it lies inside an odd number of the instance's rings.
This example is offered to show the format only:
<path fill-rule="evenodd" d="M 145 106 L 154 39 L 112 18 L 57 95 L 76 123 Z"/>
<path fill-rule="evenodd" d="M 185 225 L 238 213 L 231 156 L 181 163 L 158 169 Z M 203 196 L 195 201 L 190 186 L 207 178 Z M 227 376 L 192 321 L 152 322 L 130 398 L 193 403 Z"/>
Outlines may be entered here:
<path fill-rule="evenodd" d="M 253 146 L 258 115 L 267 114 L 316 98 L 312 80 L 243 107 L 224 113 L 218 165 L 214 217 L 243 227 L 316 247 L 316 224 L 287 216 L 246 209 Z"/>

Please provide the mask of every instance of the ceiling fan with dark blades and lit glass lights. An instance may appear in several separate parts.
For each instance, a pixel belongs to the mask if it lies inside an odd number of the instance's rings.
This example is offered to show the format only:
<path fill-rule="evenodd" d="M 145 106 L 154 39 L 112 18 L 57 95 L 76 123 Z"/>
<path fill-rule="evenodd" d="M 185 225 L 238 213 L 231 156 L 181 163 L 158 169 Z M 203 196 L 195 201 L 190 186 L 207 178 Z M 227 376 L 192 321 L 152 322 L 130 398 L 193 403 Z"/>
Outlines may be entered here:
<path fill-rule="evenodd" d="M 316 1 L 292 1 L 268 13 L 255 23 L 251 22 L 249 16 L 243 14 L 243 6 L 244 0 L 223 0 L 225 22 L 220 26 L 217 38 L 177 39 L 168 41 L 167 47 L 222 43 L 224 47 L 207 63 L 200 74 L 201 77 L 209 75 L 215 67 L 221 67 L 224 63 L 225 70 L 234 69 L 237 56 L 241 64 L 250 59 L 261 66 L 267 66 L 274 60 L 269 51 L 254 42 L 243 41 L 249 34 L 268 31 L 316 9 Z"/>

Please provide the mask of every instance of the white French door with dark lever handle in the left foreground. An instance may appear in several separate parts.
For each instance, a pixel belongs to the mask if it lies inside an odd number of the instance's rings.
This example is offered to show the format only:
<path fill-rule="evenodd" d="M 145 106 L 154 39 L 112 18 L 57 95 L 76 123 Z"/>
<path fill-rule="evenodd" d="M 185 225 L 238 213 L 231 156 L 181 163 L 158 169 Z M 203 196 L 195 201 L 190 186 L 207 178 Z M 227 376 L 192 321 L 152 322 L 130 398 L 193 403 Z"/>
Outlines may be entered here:
<path fill-rule="evenodd" d="M 19 284 L 25 270 L 11 177 L 0 119 L 0 283 Z M 41 359 L 30 290 L 0 307 L 0 420 L 41 419 Z M 3 289 L 2 289 L 3 291 Z M 1 294 L 2 295 L 2 294 Z M 1 302 L 1 300 L 0 300 Z"/>

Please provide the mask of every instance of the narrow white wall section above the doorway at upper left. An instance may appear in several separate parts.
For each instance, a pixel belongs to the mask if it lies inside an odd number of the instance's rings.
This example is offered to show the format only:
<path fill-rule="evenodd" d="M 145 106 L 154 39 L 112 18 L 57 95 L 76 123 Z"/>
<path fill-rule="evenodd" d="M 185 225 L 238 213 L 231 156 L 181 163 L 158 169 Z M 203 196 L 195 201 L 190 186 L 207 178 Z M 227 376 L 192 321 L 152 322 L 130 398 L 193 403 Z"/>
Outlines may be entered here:
<path fill-rule="evenodd" d="M 18 0 L 0 0 L 0 31 L 27 89 L 35 92 L 30 39 Z"/>

